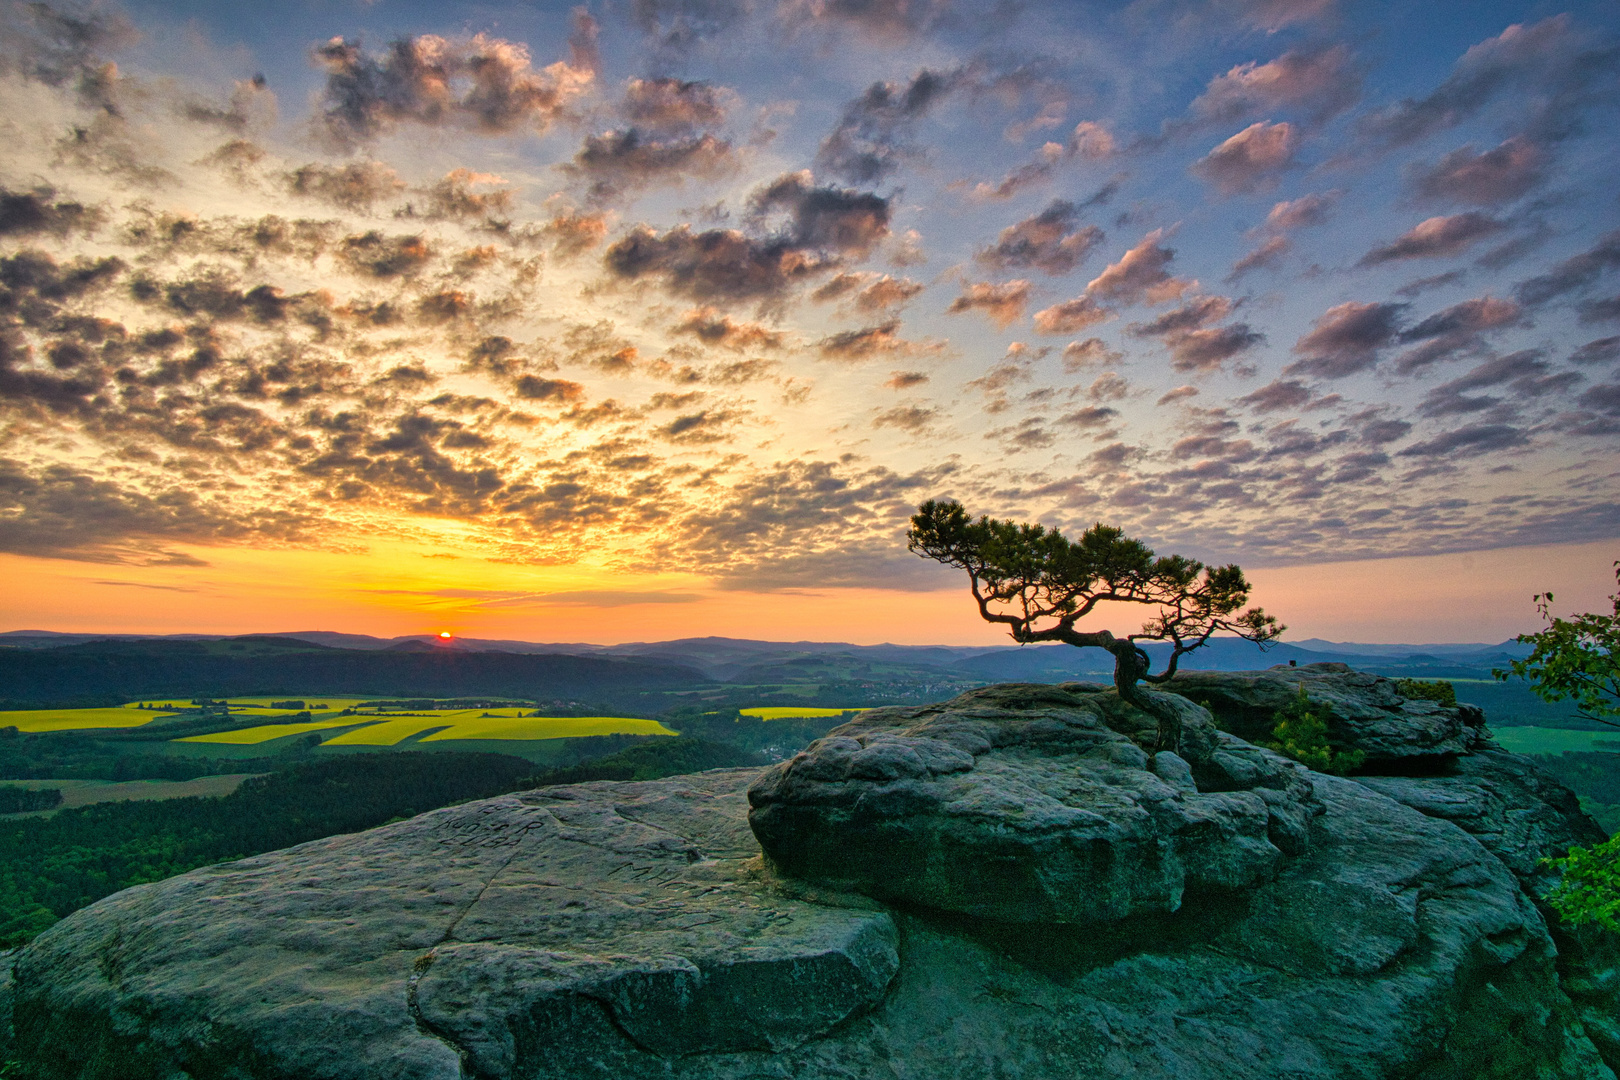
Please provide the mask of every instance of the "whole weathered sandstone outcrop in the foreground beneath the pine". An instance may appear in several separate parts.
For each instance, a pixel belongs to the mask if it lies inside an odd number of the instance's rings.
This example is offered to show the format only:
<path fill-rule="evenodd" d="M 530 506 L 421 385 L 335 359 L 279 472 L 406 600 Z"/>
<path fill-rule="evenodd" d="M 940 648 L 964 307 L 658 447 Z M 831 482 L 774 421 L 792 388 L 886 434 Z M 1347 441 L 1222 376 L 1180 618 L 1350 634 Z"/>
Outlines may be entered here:
<path fill-rule="evenodd" d="M 1306 682 L 1364 774 L 1254 745 Z M 10 957 L 47 1080 L 1614 1078 L 1602 832 L 1338 665 L 875 709 L 763 774 L 539 789 L 112 895 Z M 1205 711 L 1204 704 L 1210 711 Z M 1251 742 L 1246 742 L 1251 740 Z"/>

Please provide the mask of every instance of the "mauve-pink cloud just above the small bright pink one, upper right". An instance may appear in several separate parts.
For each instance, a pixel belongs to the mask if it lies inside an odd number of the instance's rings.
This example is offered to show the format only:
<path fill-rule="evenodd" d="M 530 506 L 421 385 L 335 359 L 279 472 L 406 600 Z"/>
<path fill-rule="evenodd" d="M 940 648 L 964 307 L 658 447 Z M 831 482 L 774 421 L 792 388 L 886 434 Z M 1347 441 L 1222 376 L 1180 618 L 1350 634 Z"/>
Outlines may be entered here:
<path fill-rule="evenodd" d="M 1346 45 L 1291 49 L 1268 63 L 1239 63 L 1210 79 L 1189 112 L 1202 123 L 1298 108 L 1322 125 L 1361 99 L 1361 71 Z"/>

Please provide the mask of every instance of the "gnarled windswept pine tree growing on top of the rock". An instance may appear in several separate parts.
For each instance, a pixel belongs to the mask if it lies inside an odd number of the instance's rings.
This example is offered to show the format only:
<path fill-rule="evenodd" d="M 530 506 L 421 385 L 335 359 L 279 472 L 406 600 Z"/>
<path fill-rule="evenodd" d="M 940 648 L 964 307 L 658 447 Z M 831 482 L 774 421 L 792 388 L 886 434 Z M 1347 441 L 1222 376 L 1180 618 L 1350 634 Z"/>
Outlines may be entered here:
<path fill-rule="evenodd" d="M 1215 633 L 1265 644 L 1286 630 L 1259 607 L 1244 609 L 1249 581 L 1236 565 L 1155 555 L 1110 525 L 1094 525 L 1071 541 L 1042 525 L 974 518 L 959 502 L 930 499 L 906 536 L 919 555 L 966 570 L 978 614 L 1006 627 L 1014 641 L 1108 649 L 1119 696 L 1139 708 L 1150 709 L 1137 682 L 1168 680 L 1181 657 Z M 1149 619 L 1124 636 L 1081 630 L 1077 623 L 1102 604 L 1137 604 Z M 1150 670 L 1140 641 L 1171 644 L 1165 670 Z"/>

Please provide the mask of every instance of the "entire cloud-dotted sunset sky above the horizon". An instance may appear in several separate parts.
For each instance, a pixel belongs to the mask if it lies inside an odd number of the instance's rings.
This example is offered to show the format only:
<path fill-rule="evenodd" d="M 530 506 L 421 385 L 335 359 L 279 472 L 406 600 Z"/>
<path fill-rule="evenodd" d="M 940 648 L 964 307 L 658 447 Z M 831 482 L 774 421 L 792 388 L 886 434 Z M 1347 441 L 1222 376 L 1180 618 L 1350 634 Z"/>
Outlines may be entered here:
<path fill-rule="evenodd" d="M 1602 2 L 5 2 L 0 628 L 988 644 L 957 499 L 1534 630 L 1617 108 Z"/>

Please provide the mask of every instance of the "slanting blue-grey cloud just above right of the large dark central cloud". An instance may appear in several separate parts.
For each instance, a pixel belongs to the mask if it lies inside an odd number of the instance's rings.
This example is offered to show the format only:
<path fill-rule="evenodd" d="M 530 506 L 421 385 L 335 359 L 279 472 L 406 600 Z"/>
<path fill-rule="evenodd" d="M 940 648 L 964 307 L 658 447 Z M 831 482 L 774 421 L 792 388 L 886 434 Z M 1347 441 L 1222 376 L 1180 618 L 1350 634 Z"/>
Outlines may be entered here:
<path fill-rule="evenodd" d="M 904 6 L 904 2 L 901 6 Z M 816 151 L 816 168 L 847 183 L 875 183 L 917 155 L 910 131 L 961 81 L 957 71 L 923 68 L 910 83 L 873 83 L 844 107 Z"/>

